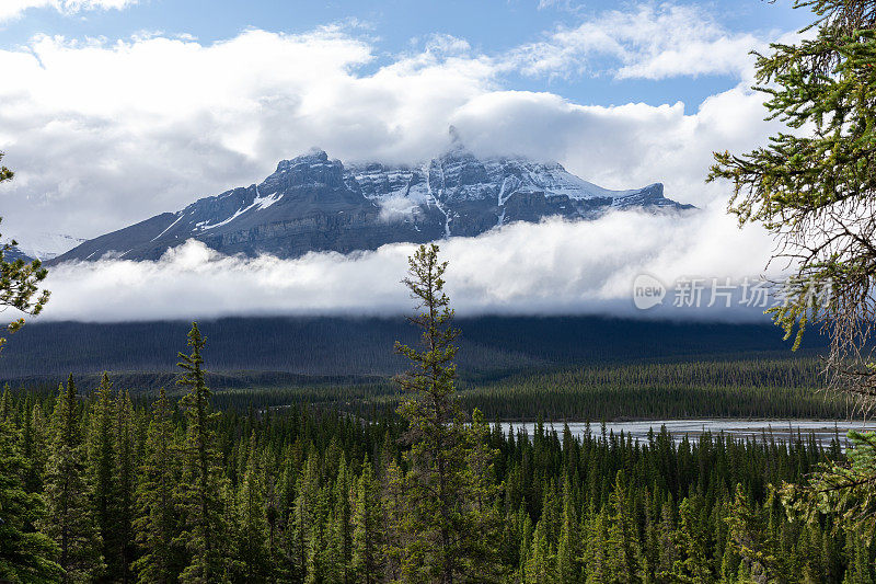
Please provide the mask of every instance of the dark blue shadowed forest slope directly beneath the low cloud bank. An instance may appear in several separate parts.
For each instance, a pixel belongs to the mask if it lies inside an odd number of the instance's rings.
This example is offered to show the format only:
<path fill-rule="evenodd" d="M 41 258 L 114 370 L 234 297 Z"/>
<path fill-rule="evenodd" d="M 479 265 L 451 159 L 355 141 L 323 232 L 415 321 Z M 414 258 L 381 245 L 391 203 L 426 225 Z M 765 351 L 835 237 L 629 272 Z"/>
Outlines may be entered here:
<path fill-rule="evenodd" d="M 458 319 L 459 369 L 488 380 L 564 365 L 784 355 L 771 324 L 680 323 L 597 317 Z M 171 371 L 188 323 L 31 323 L 10 337 L 0 378 Z M 404 368 L 393 343 L 416 341 L 403 318 L 233 318 L 201 321 L 212 371 L 389 376 Z M 823 347 L 817 335 L 804 350 Z M 231 387 L 231 386 L 229 386 Z"/>

